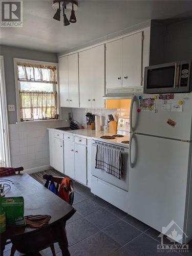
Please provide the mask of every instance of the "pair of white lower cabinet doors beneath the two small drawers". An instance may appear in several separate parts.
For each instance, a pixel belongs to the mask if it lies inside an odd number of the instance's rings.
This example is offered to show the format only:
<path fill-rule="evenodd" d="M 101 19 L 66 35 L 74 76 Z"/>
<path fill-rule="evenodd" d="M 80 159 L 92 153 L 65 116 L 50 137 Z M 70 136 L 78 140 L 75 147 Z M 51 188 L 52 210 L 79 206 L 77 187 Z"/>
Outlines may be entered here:
<path fill-rule="evenodd" d="M 87 146 L 64 141 L 65 174 L 87 185 Z"/>

